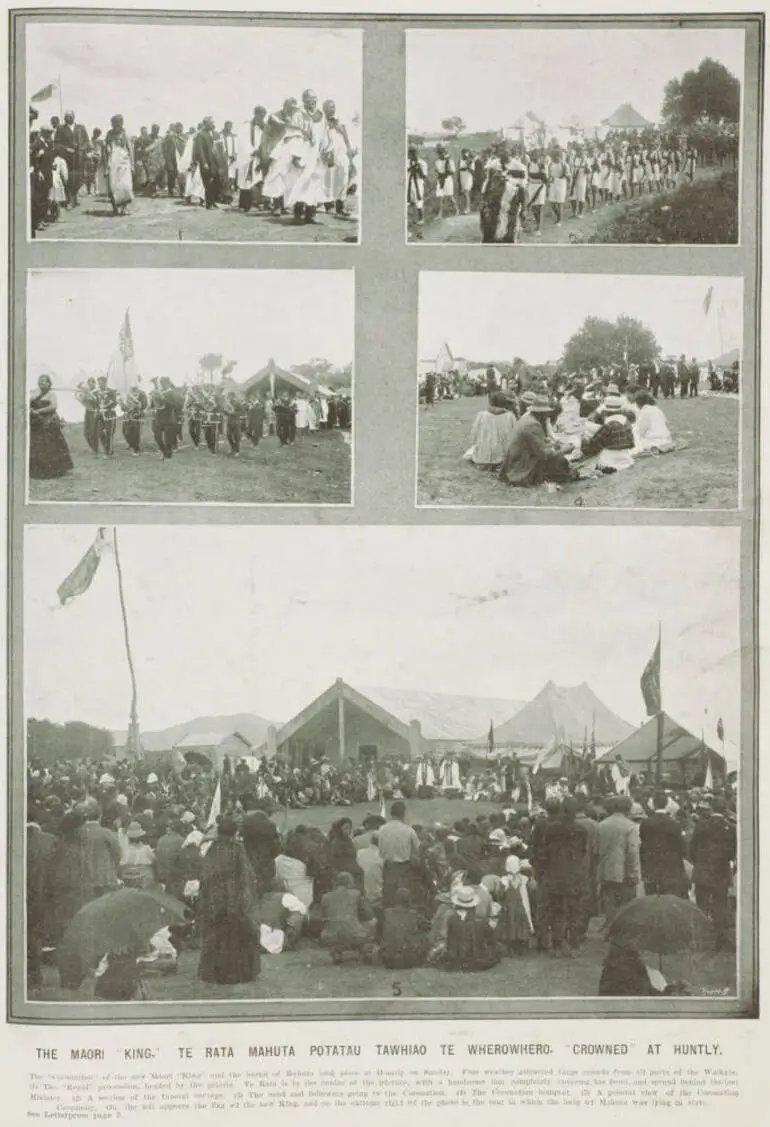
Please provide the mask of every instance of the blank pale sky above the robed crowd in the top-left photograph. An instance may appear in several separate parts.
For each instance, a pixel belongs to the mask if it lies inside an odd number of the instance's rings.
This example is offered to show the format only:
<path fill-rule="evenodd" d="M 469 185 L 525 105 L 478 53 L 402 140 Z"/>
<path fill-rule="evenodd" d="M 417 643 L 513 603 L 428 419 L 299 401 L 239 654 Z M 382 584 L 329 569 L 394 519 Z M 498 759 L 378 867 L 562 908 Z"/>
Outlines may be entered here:
<path fill-rule="evenodd" d="M 123 114 L 139 133 L 207 114 L 218 125 L 247 121 L 255 105 L 278 109 L 311 87 L 349 122 L 361 113 L 361 43 L 359 30 L 320 28 L 29 24 L 27 95 L 61 77 L 63 109 L 89 130 Z M 37 108 L 59 114 L 59 92 Z"/>

